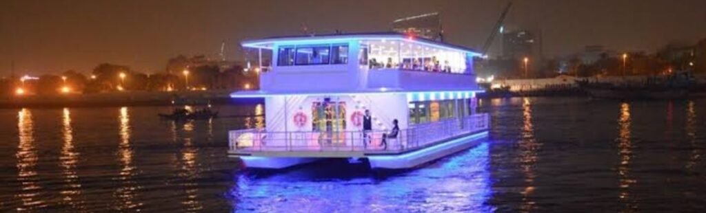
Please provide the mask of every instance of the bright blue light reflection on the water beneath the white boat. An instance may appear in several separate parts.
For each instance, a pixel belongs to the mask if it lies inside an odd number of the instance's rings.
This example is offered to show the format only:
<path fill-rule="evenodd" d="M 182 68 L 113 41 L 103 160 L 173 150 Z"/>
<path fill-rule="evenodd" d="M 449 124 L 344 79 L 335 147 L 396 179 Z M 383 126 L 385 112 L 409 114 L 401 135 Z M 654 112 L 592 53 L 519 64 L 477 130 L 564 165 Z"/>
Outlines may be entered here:
<path fill-rule="evenodd" d="M 258 212 L 489 212 L 489 143 L 429 167 L 375 178 L 326 171 L 337 165 L 275 174 L 236 175 L 234 209 Z"/>

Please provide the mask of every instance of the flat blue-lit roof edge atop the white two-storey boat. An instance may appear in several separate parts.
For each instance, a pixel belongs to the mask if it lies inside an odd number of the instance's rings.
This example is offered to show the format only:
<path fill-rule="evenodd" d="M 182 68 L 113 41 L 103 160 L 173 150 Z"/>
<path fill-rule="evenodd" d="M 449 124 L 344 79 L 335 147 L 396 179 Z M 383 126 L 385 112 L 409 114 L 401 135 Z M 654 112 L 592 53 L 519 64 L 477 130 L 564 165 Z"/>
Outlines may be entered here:
<path fill-rule="evenodd" d="M 465 46 L 458 46 L 455 44 L 448 44 L 440 41 L 434 41 L 431 39 L 425 39 L 422 37 L 414 37 L 406 34 L 401 34 L 397 32 L 365 32 L 365 33 L 342 33 L 342 34 L 313 34 L 313 35 L 298 35 L 298 36 L 285 36 L 285 37 L 269 37 L 265 39 L 252 39 L 242 41 L 241 45 L 249 48 L 257 49 L 272 49 L 274 44 L 281 45 L 296 45 L 296 44 L 316 44 L 316 43 L 335 43 L 335 42 L 345 42 L 352 40 L 362 40 L 362 39 L 386 39 L 386 40 L 404 40 L 409 42 L 415 42 L 420 44 L 426 44 L 429 46 L 436 46 L 441 49 L 448 49 L 451 51 L 462 51 L 465 53 L 470 53 L 472 55 L 481 56 L 479 51 L 467 48 Z"/>

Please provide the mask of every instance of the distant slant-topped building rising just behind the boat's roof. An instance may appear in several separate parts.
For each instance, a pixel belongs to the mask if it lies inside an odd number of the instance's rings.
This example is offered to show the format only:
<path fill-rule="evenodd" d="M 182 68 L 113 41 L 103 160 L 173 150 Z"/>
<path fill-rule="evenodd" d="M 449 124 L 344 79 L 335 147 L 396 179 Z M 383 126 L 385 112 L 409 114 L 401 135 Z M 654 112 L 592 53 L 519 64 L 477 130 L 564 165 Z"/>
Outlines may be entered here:
<path fill-rule="evenodd" d="M 439 13 L 426 13 L 399 18 L 393 21 L 392 28 L 394 32 L 443 41 L 443 30 L 441 29 Z"/>

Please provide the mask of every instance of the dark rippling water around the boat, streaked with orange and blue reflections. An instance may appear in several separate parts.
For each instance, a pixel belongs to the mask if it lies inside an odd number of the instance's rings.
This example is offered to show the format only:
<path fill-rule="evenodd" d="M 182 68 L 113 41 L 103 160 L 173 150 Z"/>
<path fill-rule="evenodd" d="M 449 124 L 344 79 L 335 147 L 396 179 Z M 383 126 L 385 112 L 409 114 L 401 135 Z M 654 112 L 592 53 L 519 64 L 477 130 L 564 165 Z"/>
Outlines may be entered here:
<path fill-rule="evenodd" d="M 262 120 L 157 119 L 168 110 L 0 110 L 0 212 L 706 209 L 705 100 L 484 100 L 489 141 L 400 174 L 335 163 L 242 172 L 225 155 L 226 132 Z"/>

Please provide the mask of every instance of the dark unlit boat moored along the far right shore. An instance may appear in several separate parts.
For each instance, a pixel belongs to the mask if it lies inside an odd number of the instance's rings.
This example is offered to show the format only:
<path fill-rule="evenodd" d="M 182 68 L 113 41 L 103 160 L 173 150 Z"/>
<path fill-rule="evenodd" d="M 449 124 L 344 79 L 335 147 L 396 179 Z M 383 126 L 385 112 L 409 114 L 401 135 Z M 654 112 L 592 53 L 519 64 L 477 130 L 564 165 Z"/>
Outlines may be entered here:
<path fill-rule="evenodd" d="M 593 98 L 618 100 L 683 99 L 697 96 L 705 86 L 695 81 L 688 72 L 673 75 L 644 77 L 637 81 L 591 82 L 589 79 L 576 83 Z"/>

